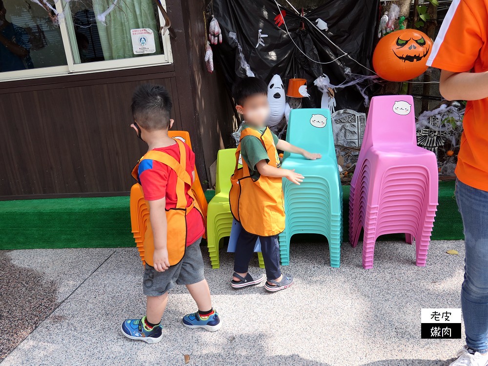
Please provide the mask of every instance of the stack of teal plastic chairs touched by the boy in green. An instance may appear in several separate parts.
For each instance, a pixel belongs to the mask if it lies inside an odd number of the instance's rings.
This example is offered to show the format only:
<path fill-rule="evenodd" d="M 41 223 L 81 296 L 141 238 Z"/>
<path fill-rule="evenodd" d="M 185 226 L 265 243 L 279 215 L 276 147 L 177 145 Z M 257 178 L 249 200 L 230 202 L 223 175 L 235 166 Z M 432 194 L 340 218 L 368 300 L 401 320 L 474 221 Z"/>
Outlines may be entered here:
<path fill-rule="evenodd" d="M 290 239 L 294 234 L 324 235 L 329 243 L 330 265 L 339 267 L 343 233 L 342 186 L 328 109 L 293 109 L 290 113 L 286 141 L 312 153 L 319 160 L 306 160 L 285 153 L 282 168 L 295 169 L 305 179 L 294 184 L 283 179 L 285 195 L 285 231 L 280 234 L 283 265 L 289 264 Z"/>

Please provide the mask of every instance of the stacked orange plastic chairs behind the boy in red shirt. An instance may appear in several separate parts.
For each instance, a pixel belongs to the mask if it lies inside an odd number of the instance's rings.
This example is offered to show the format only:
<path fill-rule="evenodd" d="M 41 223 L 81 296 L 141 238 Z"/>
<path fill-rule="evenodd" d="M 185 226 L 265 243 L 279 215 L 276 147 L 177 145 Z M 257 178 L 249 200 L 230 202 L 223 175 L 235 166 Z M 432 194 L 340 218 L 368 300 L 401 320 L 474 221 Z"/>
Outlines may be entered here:
<path fill-rule="evenodd" d="M 187 131 L 168 131 L 168 135 L 173 139 L 180 139 L 191 148 L 190 134 Z M 203 193 L 200 179 L 198 178 L 198 173 L 196 171 L 195 182 L 193 182 L 191 190 L 195 197 L 194 204 L 200 209 L 200 212 L 202 212 L 203 224 L 206 227 L 208 204 Z M 142 186 L 139 183 L 134 184 L 130 189 L 130 223 L 142 264 L 145 264 L 143 244 L 146 238 L 152 239 L 153 234 L 151 224 L 149 222 L 149 208 L 144 200 Z"/>

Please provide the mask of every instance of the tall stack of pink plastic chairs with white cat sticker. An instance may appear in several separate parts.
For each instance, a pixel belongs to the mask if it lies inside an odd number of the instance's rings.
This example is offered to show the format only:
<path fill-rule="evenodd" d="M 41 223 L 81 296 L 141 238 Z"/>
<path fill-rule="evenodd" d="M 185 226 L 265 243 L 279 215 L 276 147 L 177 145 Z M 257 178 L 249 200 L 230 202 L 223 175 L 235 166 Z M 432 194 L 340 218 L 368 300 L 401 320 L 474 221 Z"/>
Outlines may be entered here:
<path fill-rule="evenodd" d="M 349 241 L 355 247 L 364 228 L 364 268 L 376 239 L 392 233 L 415 239 L 416 264 L 426 265 L 437 193 L 437 159 L 417 146 L 413 98 L 373 97 L 349 196 Z"/>

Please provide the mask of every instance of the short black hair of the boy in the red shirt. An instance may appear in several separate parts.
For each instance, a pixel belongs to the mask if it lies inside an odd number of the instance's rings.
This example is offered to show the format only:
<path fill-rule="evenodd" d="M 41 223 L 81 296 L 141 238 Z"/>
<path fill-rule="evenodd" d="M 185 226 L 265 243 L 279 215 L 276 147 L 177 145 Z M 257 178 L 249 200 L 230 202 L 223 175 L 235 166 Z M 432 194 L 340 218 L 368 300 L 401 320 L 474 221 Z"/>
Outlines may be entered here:
<path fill-rule="evenodd" d="M 167 129 L 172 106 L 168 91 L 161 85 L 141 85 L 132 96 L 132 116 L 147 131 Z"/>

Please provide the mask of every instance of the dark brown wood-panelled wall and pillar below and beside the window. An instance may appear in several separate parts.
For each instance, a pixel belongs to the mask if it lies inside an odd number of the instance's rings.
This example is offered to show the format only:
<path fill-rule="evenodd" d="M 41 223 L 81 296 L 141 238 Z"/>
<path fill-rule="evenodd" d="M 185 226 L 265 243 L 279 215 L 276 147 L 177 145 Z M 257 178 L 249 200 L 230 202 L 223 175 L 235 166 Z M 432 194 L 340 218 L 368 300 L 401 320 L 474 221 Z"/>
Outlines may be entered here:
<path fill-rule="evenodd" d="M 232 107 L 203 64 L 203 0 L 166 0 L 177 39 L 171 65 L 0 82 L 0 200 L 128 194 L 145 152 L 129 128 L 143 82 L 165 85 L 174 129 L 190 133 L 201 181 L 228 147 Z"/>

